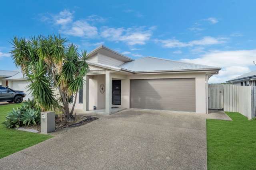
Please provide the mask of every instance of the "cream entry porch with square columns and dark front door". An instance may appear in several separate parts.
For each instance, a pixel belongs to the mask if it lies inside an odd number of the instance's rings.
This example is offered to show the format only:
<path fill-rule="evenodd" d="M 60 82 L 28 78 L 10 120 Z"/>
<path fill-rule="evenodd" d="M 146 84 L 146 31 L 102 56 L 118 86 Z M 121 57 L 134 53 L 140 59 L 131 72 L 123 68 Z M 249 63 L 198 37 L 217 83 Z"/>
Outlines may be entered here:
<path fill-rule="evenodd" d="M 83 111 L 113 114 L 130 108 L 130 80 L 125 74 L 106 70 L 84 78 Z"/>

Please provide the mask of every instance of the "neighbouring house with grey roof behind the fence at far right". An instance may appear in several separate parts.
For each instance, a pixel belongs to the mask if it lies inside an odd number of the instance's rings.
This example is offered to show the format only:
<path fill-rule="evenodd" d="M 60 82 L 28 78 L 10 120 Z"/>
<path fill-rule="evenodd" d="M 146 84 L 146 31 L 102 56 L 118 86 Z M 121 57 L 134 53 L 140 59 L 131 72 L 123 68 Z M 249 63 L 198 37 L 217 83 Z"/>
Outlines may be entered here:
<path fill-rule="evenodd" d="M 256 86 L 256 70 L 228 80 L 227 83 L 236 86 Z"/>

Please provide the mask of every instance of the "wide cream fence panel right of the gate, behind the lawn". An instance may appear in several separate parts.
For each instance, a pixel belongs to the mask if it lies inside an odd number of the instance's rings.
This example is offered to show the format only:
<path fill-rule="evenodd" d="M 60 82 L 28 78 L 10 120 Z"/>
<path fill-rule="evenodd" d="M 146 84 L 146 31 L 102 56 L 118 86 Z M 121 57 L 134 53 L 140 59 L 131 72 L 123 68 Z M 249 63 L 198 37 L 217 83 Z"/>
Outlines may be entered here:
<path fill-rule="evenodd" d="M 224 111 L 239 112 L 252 119 L 252 87 L 224 86 Z"/>

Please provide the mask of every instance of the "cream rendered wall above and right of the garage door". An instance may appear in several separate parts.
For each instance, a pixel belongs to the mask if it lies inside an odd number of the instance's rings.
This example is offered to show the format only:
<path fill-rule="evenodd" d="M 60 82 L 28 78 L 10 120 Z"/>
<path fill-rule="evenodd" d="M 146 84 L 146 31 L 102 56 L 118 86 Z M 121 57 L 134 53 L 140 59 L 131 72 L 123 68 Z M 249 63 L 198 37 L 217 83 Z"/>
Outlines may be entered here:
<path fill-rule="evenodd" d="M 206 73 L 134 74 L 127 79 L 195 78 L 196 113 L 206 113 Z M 130 97 L 129 97 L 130 98 Z M 129 99 L 130 100 L 130 99 Z M 127 101 L 127 100 L 126 100 Z M 128 105 L 128 103 L 126 103 Z"/>

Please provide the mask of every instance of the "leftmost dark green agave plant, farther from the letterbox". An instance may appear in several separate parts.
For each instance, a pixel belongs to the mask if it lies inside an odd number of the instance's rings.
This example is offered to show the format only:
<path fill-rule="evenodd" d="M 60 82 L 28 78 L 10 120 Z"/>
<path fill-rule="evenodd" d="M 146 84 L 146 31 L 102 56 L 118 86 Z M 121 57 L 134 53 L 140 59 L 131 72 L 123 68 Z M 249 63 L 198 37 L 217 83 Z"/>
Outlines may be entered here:
<path fill-rule="evenodd" d="M 8 128 L 19 127 L 21 118 L 22 111 L 18 108 L 16 110 L 13 108 L 6 116 L 6 121 L 4 121 L 3 124 Z"/>

